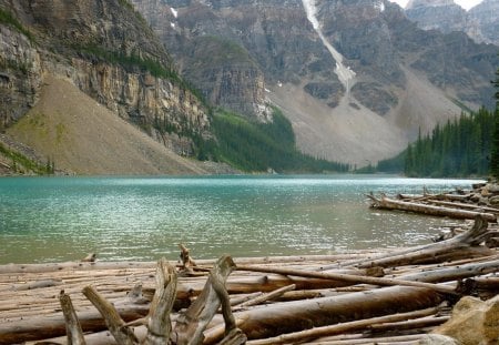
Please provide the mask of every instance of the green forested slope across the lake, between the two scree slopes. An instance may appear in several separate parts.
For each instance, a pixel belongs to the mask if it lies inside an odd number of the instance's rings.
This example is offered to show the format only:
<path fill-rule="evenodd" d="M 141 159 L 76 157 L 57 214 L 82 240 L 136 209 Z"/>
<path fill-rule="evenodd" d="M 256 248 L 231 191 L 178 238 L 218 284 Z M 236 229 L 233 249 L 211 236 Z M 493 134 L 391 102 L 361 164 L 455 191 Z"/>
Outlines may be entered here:
<path fill-rule="evenodd" d="M 348 164 L 299 152 L 291 122 L 277 109 L 267 123 L 220 111 L 213 115 L 212 129 L 216 140 L 198 145 L 202 158 L 226 162 L 242 171 L 322 173 L 350 169 Z"/>

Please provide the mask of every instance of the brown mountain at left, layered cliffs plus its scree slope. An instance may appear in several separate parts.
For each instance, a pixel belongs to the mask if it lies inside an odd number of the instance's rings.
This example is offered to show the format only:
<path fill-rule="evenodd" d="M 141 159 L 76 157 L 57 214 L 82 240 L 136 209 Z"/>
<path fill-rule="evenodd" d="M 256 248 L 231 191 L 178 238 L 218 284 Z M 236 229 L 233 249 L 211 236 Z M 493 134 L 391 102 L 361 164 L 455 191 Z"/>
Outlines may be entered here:
<path fill-rule="evenodd" d="M 211 135 L 207 108 L 125 0 L 0 0 L 0 101 L 3 146 L 29 143 L 63 171 L 206 172 L 179 154 Z"/>

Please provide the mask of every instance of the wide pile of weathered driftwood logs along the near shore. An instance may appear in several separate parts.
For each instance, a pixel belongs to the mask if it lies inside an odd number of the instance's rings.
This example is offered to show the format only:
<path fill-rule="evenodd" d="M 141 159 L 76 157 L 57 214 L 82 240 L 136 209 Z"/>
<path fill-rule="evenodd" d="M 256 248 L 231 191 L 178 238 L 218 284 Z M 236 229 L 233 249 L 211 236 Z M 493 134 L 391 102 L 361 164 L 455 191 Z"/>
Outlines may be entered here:
<path fill-rule="evenodd" d="M 462 296 L 499 293 L 478 216 L 404 250 L 0 266 L 0 344 L 417 344 Z"/>

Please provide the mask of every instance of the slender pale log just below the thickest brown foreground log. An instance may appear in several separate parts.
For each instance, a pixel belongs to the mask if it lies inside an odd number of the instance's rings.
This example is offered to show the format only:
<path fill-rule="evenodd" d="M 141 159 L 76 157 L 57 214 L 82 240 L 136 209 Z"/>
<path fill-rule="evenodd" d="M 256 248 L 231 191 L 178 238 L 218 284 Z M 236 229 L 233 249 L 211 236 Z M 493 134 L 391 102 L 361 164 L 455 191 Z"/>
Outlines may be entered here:
<path fill-rule="evenodd" d="M 302 331 L 302 332 L 282 334 L 279 336 L 275 336 L 275 337 L 271 337 L 271 338 L 249 341 L 246 344 L 247 345 L 273 345 L 273 344 L 289 344 L 289 343 L 296 344 L 296 343 L 302 343 L 302 342 L 315 339 L 315 338 L 323 337 L 323 336 L 347 333 L 347 332 L 352 332 L 352 331 L 359 331 L 359 329 L 364 329 L 364 328 L 367 328 L 367 327 L 376 325 L 376 324 L 407 321 L 410 318 L 420 318 L 422 316 L 434 315 L 435 313 L 437 313 L 437 311 L 438 311 L 438 308 L 427 308 L 427 310 L 417 311 L 417 312 L 378 316 L 378 317 L 371 317 L 371 318 L 367 318 L 367 319 L 358 319 L 358 321 L 353 321 L 353 322 L 347 322 L 347 323 L 340 323 L 337 325 L 323 326 L 323 327 L 316 327 L 316 328 Z"/>

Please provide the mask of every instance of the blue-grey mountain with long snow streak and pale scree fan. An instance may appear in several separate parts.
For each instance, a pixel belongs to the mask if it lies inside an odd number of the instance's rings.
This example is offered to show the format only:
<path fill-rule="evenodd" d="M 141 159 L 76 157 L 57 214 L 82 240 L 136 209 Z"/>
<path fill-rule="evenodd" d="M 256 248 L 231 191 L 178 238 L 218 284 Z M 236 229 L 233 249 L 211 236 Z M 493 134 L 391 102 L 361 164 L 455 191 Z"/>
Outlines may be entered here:
<path fill-rule="evenodd" d="M 132 2 L 207 100 L 256 121 L 278 105 L 315 156 L 365 165 L 493 106 L 497 48 L 418 29 L 389 1 Z"/>

